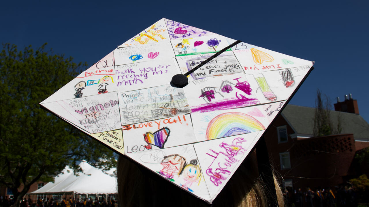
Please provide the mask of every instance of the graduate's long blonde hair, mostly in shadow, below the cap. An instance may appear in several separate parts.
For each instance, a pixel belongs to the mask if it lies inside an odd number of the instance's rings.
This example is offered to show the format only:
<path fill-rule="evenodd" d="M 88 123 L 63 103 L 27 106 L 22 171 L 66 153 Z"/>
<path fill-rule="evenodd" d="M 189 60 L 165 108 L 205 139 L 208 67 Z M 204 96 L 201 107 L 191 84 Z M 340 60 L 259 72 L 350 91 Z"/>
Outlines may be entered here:
<path fill-rule="evenodd" d="M 279 207 L 284 207 L 282 191 L 274 175 L 273 178 L 277 203 Z M 117 181 L 121 207 L 210 206 L 122 155 L 118 159 Z M 211 207 L 266 207 L 271 202 L 275 203 L 265 192 L 266 185 L 259 177 L 254 151 L 242 162 Z"/>

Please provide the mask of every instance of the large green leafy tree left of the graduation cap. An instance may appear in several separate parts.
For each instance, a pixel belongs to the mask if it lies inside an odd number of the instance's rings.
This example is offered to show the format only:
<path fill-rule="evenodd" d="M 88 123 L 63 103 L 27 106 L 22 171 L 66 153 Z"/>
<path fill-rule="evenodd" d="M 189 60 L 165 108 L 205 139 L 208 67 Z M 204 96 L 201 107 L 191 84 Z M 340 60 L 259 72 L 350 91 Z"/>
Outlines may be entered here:
<path fill-rule="evenodd" d="M 66 165 L 75 172 L 82 160 L 103 169 L 115 165 L 111 150 L 40 108 L 86 69 L 72 57 L 45 52 L 45 45 L 18 51 L 6 43 L 0 53 L 0 185 L 12 190 L 15 206 L 32 183 L 53 181 Z"/>

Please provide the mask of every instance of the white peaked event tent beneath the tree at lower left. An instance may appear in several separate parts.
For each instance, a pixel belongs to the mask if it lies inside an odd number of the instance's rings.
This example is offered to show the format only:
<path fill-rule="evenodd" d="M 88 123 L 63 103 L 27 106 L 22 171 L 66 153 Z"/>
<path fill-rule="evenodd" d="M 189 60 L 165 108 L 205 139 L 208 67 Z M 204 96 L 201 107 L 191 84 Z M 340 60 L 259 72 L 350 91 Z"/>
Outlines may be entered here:
<path fill-rule="evenodd" d="M 94 168 L 86 162 L 81 162 L 79 166 L 83 173 L 74 175 L 73 170 L 66 166 L 62 173 L 55 177 L 55 182 L 49 182 L 31 194 L 57 194 L 57 193 L 77 193 L 77 194 L 111 194 L 117 192 L 117 179 L 111 169 L 108 174 L 101 169 Z"/>

